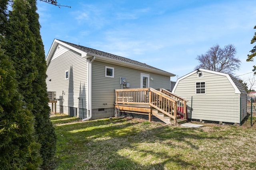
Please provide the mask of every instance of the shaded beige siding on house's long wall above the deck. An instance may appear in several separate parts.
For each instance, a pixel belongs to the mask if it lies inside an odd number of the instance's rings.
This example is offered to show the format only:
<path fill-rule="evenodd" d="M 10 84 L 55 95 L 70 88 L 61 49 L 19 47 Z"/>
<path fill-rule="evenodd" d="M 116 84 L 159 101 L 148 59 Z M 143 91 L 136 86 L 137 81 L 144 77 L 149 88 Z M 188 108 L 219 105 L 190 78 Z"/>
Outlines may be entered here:
<path fill-rule="evenodd" d="M 105 77 L 105 66 L 114 67 L 114 78 Z M 141 73 L 149 74 L 153 78 L 150 80 L 150 87 L 170 89 L 168 76 L 94 61 L 92 63 L 92 109 L 114 108 L 115 89 L 121 89 L 120 77 L 126 78 L 126 83 L 130 83 L 130 89 L 140 88 Z"/>

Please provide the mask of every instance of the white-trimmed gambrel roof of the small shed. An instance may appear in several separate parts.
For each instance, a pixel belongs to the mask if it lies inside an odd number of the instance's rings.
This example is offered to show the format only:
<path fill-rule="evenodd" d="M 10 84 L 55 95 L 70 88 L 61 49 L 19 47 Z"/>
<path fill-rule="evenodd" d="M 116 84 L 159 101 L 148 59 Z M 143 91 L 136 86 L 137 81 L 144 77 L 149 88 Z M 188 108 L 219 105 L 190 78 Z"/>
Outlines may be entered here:
<path fill-rule="evenodd" d="M 199 68 L 198 70 L 203 71 L 203 72 L 207 72 L 207 73 L 212 73 L 212 74 L 217 74 L 217 75 L 225 76 L 225 77 L 227 77 L 227 79 L 229 80 L 231 85 L 234 87 L 236 94 L 247 94 L 245 89 L 242 87 L 241 83 L 236 78 L 230 76 L 227 73 L 221 73 L 221 72 L 218 72 L 218 71 L 211 71 L 211 70 L 201 69 L 201 68 Z M 186 77 L 189 77 L 190 75 L 196 73 L 198 70 L 194 70 L 191 73 L 188 73 L 187 75 L 184 75 L 184 76 L 180 77 L 177 80 L 177 83 L 175 84 L 175 86 L 173 88 L 173 91 L 175 91 L 175 89 L 176 89 L 176 87 L 177 87 L 177 85 L 178 85 L 180 80 L 185 79 Z"/>

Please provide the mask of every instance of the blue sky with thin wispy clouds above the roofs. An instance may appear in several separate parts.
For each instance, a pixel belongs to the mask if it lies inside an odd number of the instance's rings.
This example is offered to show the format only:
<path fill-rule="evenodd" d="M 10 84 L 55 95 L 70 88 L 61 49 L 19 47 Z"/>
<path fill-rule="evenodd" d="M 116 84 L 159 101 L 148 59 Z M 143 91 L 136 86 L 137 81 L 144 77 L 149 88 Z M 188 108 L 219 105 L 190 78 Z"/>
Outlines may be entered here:
<path fill-rule="evenodd" d="M 199 64 L 197 55 L 216 44 L 233 44 L 242 61 L 236 75 L 244 81 L 253 77 L 256 63 L 246 58 L 256 45 L 250 44 L 256 32 L 255 0 L 57 1 L 71 8 L 38 1 L 46 55 L 56 38 L 182 77 Z"/>

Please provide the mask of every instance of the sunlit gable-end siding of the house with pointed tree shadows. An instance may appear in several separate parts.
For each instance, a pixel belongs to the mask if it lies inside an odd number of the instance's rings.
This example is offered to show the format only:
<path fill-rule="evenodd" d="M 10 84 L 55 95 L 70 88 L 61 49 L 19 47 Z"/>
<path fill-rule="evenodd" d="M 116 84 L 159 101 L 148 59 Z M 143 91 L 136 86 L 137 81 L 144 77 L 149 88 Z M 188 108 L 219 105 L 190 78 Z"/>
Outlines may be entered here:
<path fill-rule="evenodd" d="M 47 68 L 47 90 L 56 91 L 56 99 L 63 99 L 57 102 L 57 111 L 69 114 L 69 107 L 82 108 L 82 100 L 78 97 L 83 98 L 84 109 L 87 106 L 87 63 L 76 51 L 62 45 L 58 47 Z M 67 70 L 69 78 L 65 79 Z M 77 109 L 78 112 L 81 111 Z"/>

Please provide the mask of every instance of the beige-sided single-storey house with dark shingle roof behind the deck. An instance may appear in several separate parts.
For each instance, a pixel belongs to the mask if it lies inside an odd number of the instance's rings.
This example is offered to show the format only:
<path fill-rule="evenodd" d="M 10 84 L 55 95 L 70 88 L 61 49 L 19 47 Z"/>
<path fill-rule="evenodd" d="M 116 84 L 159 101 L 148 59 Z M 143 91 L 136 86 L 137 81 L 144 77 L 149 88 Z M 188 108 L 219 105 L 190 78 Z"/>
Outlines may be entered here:
<path fill-rule="evenodd" d="M 83 120 L 114 116 L 115 89 L 170 89 L 170 77 L 175 76 L 145 63 L 57 39 L 46 63 L 47 89 L 56 94 L 57 112 Z"/>

